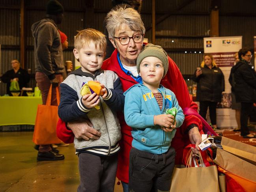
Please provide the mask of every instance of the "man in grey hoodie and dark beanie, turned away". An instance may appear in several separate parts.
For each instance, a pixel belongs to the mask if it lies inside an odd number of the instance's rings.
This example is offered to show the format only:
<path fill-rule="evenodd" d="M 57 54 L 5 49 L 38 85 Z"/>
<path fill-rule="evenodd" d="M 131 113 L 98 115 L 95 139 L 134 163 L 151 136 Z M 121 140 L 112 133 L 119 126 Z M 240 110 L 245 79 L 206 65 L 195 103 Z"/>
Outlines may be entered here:
<path fill-rule="evenodd" d="M 34 23 L 31 28 L 34 37 L 36 82 L 42 93 L 43 104 L 46 104 L 50 85 L 58 86 L 65 73 L 60 33 L 56 25 L 62 22 L 63 13 L 64 8 L 60 2 L 50 0 L 46 7 L 46 17 Z M 51 104 L 57 106 L 55 89 L 52 89 Z M 51 145 L 39 145 L 37 160 L 62 159 L 64 155 L 58 154 L 58 150 L 52 149 Z"/>

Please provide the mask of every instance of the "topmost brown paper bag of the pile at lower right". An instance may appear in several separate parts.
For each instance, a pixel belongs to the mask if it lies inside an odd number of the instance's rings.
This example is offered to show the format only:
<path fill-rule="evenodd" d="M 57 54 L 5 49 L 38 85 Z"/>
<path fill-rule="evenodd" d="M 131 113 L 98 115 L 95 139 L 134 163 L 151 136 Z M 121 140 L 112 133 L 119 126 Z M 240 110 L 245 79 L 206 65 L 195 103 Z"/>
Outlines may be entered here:
<path fill-rule="evenodd" d="M 213 138 L 221 140 L 220 145 L 224 151 L 228 151 L 229 153 L 256 165 L 256 147 L 222 136 L 214 136 Z"/>

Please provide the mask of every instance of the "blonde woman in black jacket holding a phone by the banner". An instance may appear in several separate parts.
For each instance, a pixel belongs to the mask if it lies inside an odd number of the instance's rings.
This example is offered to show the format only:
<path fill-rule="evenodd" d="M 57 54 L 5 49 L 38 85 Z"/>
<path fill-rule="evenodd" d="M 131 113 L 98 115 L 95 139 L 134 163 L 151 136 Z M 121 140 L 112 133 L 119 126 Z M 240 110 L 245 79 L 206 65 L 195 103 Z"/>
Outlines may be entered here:
<path fill-rule="evenodd" d="M 221 101 L 221 93 L 225 90 L 225 84 L 224 75 L 211 54 L 204 55 L 203 61 L 200 67 L 197 67 L 192 79 L 197 83 L 196 101 L 200 102 L 199 114 L 206 119 L 209 107 L 212 127 L 217 129 L 216 107 L 217 103 Z"/>

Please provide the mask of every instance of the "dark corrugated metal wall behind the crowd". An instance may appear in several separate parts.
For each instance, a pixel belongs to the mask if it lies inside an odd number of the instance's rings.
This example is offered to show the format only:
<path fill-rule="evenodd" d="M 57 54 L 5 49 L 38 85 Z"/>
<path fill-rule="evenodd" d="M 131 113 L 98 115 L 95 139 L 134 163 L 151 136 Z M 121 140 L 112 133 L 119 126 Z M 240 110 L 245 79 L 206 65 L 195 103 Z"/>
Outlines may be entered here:
<path fill-rule="evenodd" d="M 72 47 L 77 30 L 86 27 L 103 31 L 103 19 L 112 8 L 111 0 L 94 0 L 90 18 L 86 18 L 84 0 L 59 0 L 64 6 L 64 21 L 58 26 L 67 34 L 69 49 L 64 51 L 64 61 L 72 60 Z M 31 25 L 45 17 L 48 0 L 25 0 L 25 34 L 27 69 L 34 74 L 34 39 Z M 143 0 L 142 20 L 145 28 L 151 27 L 151 0 Z M 2 45 L 2 72 L 11 69 L 10 60 L 19 60 L 20 44 L 20 0 L 1 0 L 0 2 L 0 44 Z M 181 73 L 193 74 L 202 60 L 203 37 L 209 34 L 209 11 L 211 0 L 156 0 L 156 20 L 169 14 L 169 17 L 156 26 L 156 44 L 161 45 L 177 63 Z M 1 8 L 2 5 L 2 8 Z M 4 7 L 5 6 L 5 7 Z M 8 8 L 9 7 L 9 8 Z M 220 36 L 243 35 L 243 47 L 253 48 L 252 37 L 256 34 L 256 4 L 254 0 L 222 0 L 219 7 Z M 238 13 L 237 16 L 232 13 Z M 86 22 L 90 21 L 90 23 Z M 151 42 L 152 30 L 145 37 Z M 193 50 L 194 49 L 194 50 Z M 187 51 L 187 53 L 185 53 Z M 194 53 L 196 51 L 196 53 Z M 187 81 L 187 80 L 186 80 Z M 192 84 L 191 80 L 187 84 Z M 32 79 L 30 86 L 34 86 Z M 0 95 L 5 93 L 5 85 L 0 83 Z"/>

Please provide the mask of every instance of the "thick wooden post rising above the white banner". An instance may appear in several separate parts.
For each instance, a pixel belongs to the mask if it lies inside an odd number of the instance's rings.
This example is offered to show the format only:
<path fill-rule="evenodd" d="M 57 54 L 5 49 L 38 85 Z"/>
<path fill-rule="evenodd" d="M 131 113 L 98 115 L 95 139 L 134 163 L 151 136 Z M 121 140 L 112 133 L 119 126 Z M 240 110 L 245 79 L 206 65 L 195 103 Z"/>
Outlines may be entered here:
<path fill-rule="evenodd" d="M 210 36 L 219 37 L 219 9 L 215 7 L 210 14 Z"/>

